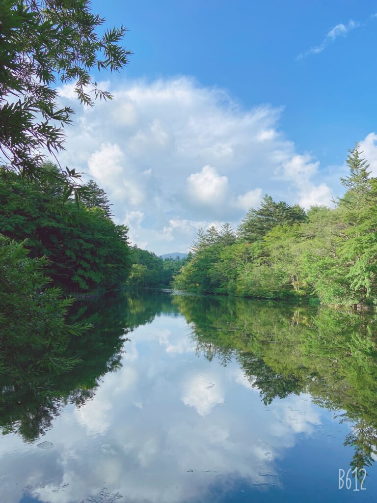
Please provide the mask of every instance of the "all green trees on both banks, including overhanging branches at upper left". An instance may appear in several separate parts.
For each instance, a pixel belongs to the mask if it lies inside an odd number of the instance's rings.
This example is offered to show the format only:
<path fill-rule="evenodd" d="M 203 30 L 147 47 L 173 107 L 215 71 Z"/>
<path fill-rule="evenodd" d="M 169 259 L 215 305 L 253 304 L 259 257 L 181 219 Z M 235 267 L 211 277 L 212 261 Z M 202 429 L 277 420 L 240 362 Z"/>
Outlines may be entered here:
<path fill-rule="evenodd" d="M 204 293 L 375 303 L 377 183 L 357 144 L 334 209 L 305 212 L 265 196 L 237 232 L 201 230 L 189 257 L 162 260 L 130 246 L 104 190 L 58 160 L 74 114 L 59 109 L 58 86 L 71 82 L 84 105 L 111 100 L 90 70 L 128 64 L 126 29 L 100 35 L 105 20 L 84 0 L 7 2 L 0 15 L 1 372 L 30 378 L 77 363 L 66 356 L 69 341 L 91 328 L 67 320 L 78 292 L 166 287 L 174 278 L 176 288 Z"/>

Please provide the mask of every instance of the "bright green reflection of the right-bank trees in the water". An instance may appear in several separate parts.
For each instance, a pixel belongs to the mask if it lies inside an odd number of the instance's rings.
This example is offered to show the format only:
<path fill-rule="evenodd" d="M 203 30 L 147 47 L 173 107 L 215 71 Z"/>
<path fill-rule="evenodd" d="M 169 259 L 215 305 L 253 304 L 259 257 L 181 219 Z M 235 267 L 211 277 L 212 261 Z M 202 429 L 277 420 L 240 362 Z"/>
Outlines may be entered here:
<path fill-rule="evenodd" d="M 267 405 L 310 393 L 350 423 L 352 468 L 377 455 L 375 316 L 244 299 L 179 295 L 197 353 L 226 366 L 236 359 Z"/>

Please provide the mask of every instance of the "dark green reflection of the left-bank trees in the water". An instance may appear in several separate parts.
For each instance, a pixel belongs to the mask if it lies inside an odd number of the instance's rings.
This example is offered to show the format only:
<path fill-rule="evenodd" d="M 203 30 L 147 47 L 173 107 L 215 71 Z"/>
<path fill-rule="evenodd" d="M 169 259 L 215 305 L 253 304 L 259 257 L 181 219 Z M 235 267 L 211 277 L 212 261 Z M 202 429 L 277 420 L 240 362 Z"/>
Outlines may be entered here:
<path fill-rule="evenodd" d="M 17 432 L 25 442 L 45 435 L 64 405 L 83 405 L 95 396 L 103 376 L 121 367 L 129 331 L 150 323 L 162 311 L 178 309 L 158 292 L 148 297 L 134 292 L 132 297 L 118 293 L 95 301 L 76 301 L 69 311 L 69 324 L 91 325 L 81 337 L 70 338 L 65 349 L 65 357 L 79 360 L 79 364 L 73 371 L 62 369 L 59 375 L 46 370 L 22 373 L 22 379 L 15 379 L 12 373 L 0 373 L 3 434 Z"/>

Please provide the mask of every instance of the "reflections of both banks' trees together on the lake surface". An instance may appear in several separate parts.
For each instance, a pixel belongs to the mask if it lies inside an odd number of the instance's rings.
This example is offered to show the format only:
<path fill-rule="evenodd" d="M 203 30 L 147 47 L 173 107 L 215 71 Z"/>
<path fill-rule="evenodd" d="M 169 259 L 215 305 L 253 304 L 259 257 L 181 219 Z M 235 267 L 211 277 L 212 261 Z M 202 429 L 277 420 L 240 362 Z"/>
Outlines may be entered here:
<path fill-rule="evenodd" d="M 93 325 L 72 341 L 67 357 L 81 362 L 70 372 L 36 375 L 33 382 L 1 376 L 0 426 L 34 442 L 51 428 L 66 404 L 80 407 L 95 395 L 102 377 L 121 366 L 129 332 L 162 313 L 182 314 L 197 354 L 226 366 L 235 359 L 264 404 L 310 393 L 351 431 L 352 467 L 368 467 L 377 454 L 377 346 L 375 316 L 327 308 L 245 299 L 121 294 L 77 302 L 74 321 Z M 359 472 L 358 472 L 359 473 Z"/>

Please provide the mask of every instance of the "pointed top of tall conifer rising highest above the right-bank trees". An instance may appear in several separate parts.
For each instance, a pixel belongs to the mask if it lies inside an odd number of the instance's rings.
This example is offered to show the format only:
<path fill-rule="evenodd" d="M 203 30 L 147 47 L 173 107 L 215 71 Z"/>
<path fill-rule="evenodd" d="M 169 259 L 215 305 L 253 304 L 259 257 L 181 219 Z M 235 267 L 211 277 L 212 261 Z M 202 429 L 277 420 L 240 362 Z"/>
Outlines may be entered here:
<path fill-rule="evenodd" d="M 347 189 L 340 202 L 352 206 L 354 209 L 359 210 L 365 205 L 368 195 L 371 191 L 370 186 L 370 171 L 368 171 L 369 164 L 365 159 L 361 158 L 359 143 L 355 143 L 352 150 L 348 150 L 348 157 L 346 163 L 349 166 L 349 175 L 346 178 L 341 178 L 340 182 Z"/>

